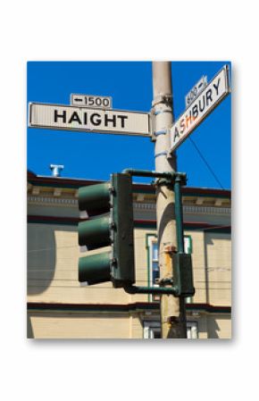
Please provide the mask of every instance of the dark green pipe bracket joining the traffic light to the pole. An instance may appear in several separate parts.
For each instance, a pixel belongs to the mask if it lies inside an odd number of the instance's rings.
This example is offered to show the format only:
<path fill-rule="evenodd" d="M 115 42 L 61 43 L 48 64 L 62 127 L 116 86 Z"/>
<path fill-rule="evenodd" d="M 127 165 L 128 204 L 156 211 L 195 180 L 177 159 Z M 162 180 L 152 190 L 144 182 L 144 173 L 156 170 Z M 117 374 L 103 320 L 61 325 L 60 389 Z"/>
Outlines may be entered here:
<path fill-rule="evenodd" d="M 183 239 L 183 219 L 182 219 L 182 205 L 181 205 L 181 191 L 180 187 L 182 185 L 186 185 L 187 178 L 186 174 L 182 172 L 171 172 L 171 171 L 166 171 L 166 172 L 157 172 L 157 171 L 147 171 L 147 170 L 135 170 L 135 169 L 125 169 L 122 171 L 123 174 L 129 174 L 130 176 L 139 176 L 139 177 L 155 177 L 160 180 L 164 180 L 164 183 L 173 186 L 174 192 L 175 192 L 175 220 L 176 220 L 176 226 L 177 226 L 177 245 L 178 245 L 178 254 L 180 254 L 180 257 L 184 258 L 186 255 L 184 254 L 184 239 Z M 155 288 L 155 287 L 138 287 L 138 286 L 125 286 L 123 287 L 126 292 L 129 294 L 160 294 L 160 295 L 173 295 L 175 297 L 180 297 L 183 294 L 185 297 L 188 297 L 190 295 L 194 294 L 194 288 L 192 286 L 189 286 L 189 281 L 190 279 L 189 274 L 191 274 L 191 269 L 189 269 L 189 258 L 188 261 L 186 262 L 188 264 L 186 272 L 188 273 L 188 279 L 187 281 L 184 280 L 184 276 L 180 274 L 180 257 L 175 260 L 175 276 L 179 278 L 180 282 L 180 288 L 179 286 L 173 285 L 171 282 L 171 288 L 170 287 L 160 287 L 160 288 Z M 181 263 L 181 266 L 183 264 Z M 192 274 L 191 274 L 192 275 Z M 191 277 L 192 281 L 192 277 Z"/>

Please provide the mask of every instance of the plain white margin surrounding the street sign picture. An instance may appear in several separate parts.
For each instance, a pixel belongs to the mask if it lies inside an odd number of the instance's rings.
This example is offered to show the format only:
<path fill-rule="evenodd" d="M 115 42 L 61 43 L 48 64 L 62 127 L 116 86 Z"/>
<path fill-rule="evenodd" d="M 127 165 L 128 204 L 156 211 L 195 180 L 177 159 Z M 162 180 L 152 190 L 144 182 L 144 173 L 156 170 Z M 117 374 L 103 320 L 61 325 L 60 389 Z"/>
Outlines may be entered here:
<path fill-rule="evenodd" d="M 158 399 L 161 395 L 160 386 L 143 386 L 150 382 L 150 364 L 161 364 L 163 370 L 156 370 L 156 382 L 170 382 L 172 357 L 174 380 L 178 386 L 174 388 L 175 397 L 182 397 L 182 388 L 188 386 L 196 388 L 200 382 L 200 372 L 203 372 L 203 391 L 210 393 L 212 401 L 218 398 L 219 391 L 225 398 L 239 396 L 252 398 L 257 391 L 257 372 L 255 369 L 249 372 L 249 386 L 244 380 L 244 372 L 240 364 L 249 366 L 257 349 L 257 338 L 251 336 L 249 327 L 253 322 L 255 332 L 258 330 L 258 322 L 255 319 L 257 291 L 259 281 L 258 269 L 253 271 L 254 280 L 247 278 L 246 269 L 242 266 L 255 264 L 255 254 L 249 249 L 256 249 L 257 231 L 255 221 L 256 196 L 253 190 L 256 188 L 255 161 L 258 154 L 258 136 L 255 135 L 255 121 L 257 115 L 257 90 L 256 77 L 258 75 L 258 63 L 256 49 L 257 33 L 257 9 L 256 2 L 248 2 L 233 10 L 229 2 L 219 0 L 217 10 L 219 13 L 209 13 L 209 25 L 214 29 L 205 30 L 205 25 L 196 24 L 194 40 L 190 41 L 190 29 L 183 29 L 183 19 L 174 18 L 172 23 L 172 11 L 174 16 L 184 15 L 184 25 L 193 27 L 194 21 L 200 18 L 201 10 L 205 10 L 205 1 L 176 2 L 173 7 L 149 7 L 146 18 L 146 4 L 137 3 L 127 7 L 127 19 L 125 10 L 121 18 L 118 13 L 111 10 L 119 10 L 119 2 L 111 0 L 102 4 L 102 13 L 99 12 L 100 4 L 88 3 L 81 7 L 75 6 L 76 18 L 71 18 L 71 7 L 62 7 L 59 2 L 50 2 L 40 8 L 35 8 L 29 0 L 15 4 L 5 2 L 2 10 L 1 34 L 5 38 L 2 46 L 2 96 L 4 119 L 3 135 L 3 189 L 8 193 L 9 209 L 16 210 L 13 218 L 9 213 L 4 213 L 2 227 L 4 237 L 11 238 L 13 228 L 12 219 L 15 218 L 16 238 L 21 238 L 16 246 L 16 260 L 19 260 L 15 269 L 16 280 L 13 280 L 13 269 L 3 268 L 3 282 L 12 282 L 13 297 L 10 297 L 9 285 L 2 288 L 2 297 L 8 299 L 8 307 L 4 310 L 2 318 L 6 330 L 2 330 L 4 344 L 2 348 L 2 361 L 4 362 L 3 394 L 12 395 L 13 398 L 22 396 L 28 400 L 38 394 L 39 401 L 52 397 L 63 397 L 63 401 L 71 400 L 71 397 L 81 397 L 83 383 L 88 378 L 88 397 L 96 398 L 98 389 L 98 401 L 104 396 L 106 399 L 117 398 L 118 393 L 125 393 L 125 377 L 134 372 L 134 390 L 138 397 Z M 82 4 L 80 4 L 82 5 Z M 165 6 L 169 4 L 165 4 Z M 138 8 L 138 13 L 136 9 Z M 188 10 L 188 13 L 187 13 Z M 61 18 L 62 11 L 62 18 Z M 166 11 L 168 11 L 166 13 Z M 86 15 L 87 31 L 86 31 Z M 109 15 L 109 24 L 107 24 Z M 22 18 L 21 18 L 22 16 Z M 104 27 L 111 38 L 116 38 L 116 46 L 106 46 Z M 47 29 L 46 29 L 47 21 Z M 136 21 L 136 29 L 132 29 L 132 21 Z M 163 27 L 170 32 L 162 36 L 155 32 L 157 21 L 163 21 Z M 15 29 L 13 28 L 15 27 Z M 123 35 L 118 35 L 118 31 Z M 86 34 L 93 31 L 95 40 L 89 40 L 86 46 Z M 72 35 L 71 35 L 72 32 Z M 180 38 L 179 38 L 180 32 Z M 8 33 L 8 35 L 6 35 Z M 76 39 L 75 39 L 75 34 Z M 61 40 L 61 37 L 63 38 Z M 197 38 L 202 38 L 202 46 L 192 46 Z M 173 39 L 173 41 L 172 41 Z M 197 43 L 197 42 L 196 42 Z M 132 46 L 134 44 L 134 46 Z M 145 44 L 145 52 L 143 46 Z M 183 44 L 188 44 L 183 46 Z M 131 46 L 130 46 L 131 45 Z M 119 54 L 120 53 L 120 54 Z M 232 341 L 198 341 L 195 347 L 186 347 L 185 342 L 166 345 L 160 342 L 143 344 L 138 342 L 81 342 L 81 341 L 38 341 L 33 345 L 25 340 L 24 301 L 26 280 L 24 279 L 24 252 L 25 252 L 25 179 L 26 171 L 26 146 L 25 134 L 21 134 L 26 126 L 24 117 L 26 105 L 26 71 L 27 60 L 222 60 L 233 61 L 233 83 L 235 96 L 233 96 L 233 183 L 236 187 L 234 194 L 235 208 L 233 220 L 235 222 L 235 246 L 233 247 L 233 259 L 236 265 L 235 284 L 235 336 Z M 12 105 L 12 106 L 10 106 Z M 13 115 L 15 113 L 15 118 Z M 251 118 L 252 116 L 252 118 Z M 12 130 L 10 131 L 10 121 Z M 249 134 L 249 140 L 247 135 Z M 15 142 L 15 146 L 13 143 Z M 7 149 L 6 149 L 7 146 Z M 10 151 L 9 151 L 10 147 Z M 10 163 L 12 155 L 12 163 Z M 21 167 L 23 166 L 23 168 Z M 15 185 L 13 185 L 15 182 Z M 7 192 L 6 192 L 7 191 Z M 252 195 L 252 196 L 251 196 Z M 5 196 L 4 196 L 5 197 Z M 5 210 L 4 199 L 2 209 Z M 19 202 L 19 208 L 17 208 Z M 8 209 L 6 209 L 8 210 Z M 246 210 L 246 213 L 243 211 Z M 11 224 L 12 222 L 12 224 Z M 3 224 L 4 223 L 4 224 Z M 247 235 L 249 233 L 249 235 Z M 7 241 L 4 246 L 4 266 L 10 266 L 10 255 L 13 255 L 13 241 Z M 5 252 L 6 251 L 6 252 Z M 249 282 L 248 282 L 248 281 Z M 23 285 L 22 285 L 23 283 Z M 246 285 L 247 284 L 247 285 Z M 10 311 L 15 311 L 14 316 Z M 12 351 L 12 353 L 10 353 Z M 18 355 L 13 363 L 12 355 Z M 86 359 L 88 363 L 86 363 Z M 186 369 L 186 362 L 192 361 L 194 368 Z M 50 363 L 51 361 L 51 363 Z M 125 363 L 127 361 L 127 363 Z M 136 363 L 138 361 L 138 363 Z M 224 361 L 224 363 L 222 363 Z M 101 363 L 100 363 L 101 362 Z M 118 365 L 123 369 L 118 370 Z M 205 369 L 207 366 L 208 369 Z M 183 375 L 182 372 L 185 372 Z M 98 372 L 98 375 L 96 375 Z M 118 393 L 114 396 L 113 382 L 114 372 L 117 374 Z M 211 391 L 212 377 L 217 377 L 221 372 L 220 383 L 216 383 L 215 392 Z M 16 385 L 13 386 L 13 377 Z M 28 383 L 29 377 L 29 385 Z M 47 380 L 46 389 L 42 387 L 42 378 Z M 69 377 L 65 386 L 61 386 L 64 378 Z M 53 380 L 53 378 L 55 380 Z M 232 383 L 235 383 L 235 386 Z M 100 386 L 102 383 L 102 386 Z M 29 391 L 28 391 L 29 388 Z M 38 389 L 40 388 L 40 392 Z M 94 389 L 92 389 L 94 388 Z M 125 401 L 132 395 L 125 394 Z M 200 391 L 192 392 L 193 401 L 200 399 Z"/>

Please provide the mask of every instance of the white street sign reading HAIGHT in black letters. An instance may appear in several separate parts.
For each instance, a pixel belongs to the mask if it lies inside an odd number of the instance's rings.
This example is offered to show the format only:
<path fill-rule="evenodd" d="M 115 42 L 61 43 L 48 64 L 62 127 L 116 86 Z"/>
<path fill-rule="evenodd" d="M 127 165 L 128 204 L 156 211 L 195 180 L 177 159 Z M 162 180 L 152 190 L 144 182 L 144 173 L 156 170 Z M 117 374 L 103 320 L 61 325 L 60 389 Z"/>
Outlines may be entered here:
<path fill-rule="evenodd" d="M 150 137 L 149 113 L 29 103 L 29 127 Z"/>

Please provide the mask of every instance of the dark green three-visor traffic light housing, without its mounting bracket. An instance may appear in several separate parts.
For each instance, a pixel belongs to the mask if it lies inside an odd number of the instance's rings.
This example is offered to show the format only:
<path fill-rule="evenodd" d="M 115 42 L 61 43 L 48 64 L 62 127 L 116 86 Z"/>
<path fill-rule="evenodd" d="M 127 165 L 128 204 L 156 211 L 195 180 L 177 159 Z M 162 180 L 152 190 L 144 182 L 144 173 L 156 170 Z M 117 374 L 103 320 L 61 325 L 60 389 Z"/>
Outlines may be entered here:
<path fill-rule="evenodd" d="M 111 180 L 79 188 L 79 246 L 95 254 L 79 258 L 79 281 L 88 285 L 112 281 L 120 288 L 135 283 L 132 179 L 114 173 Z M 99 249 L 111 246 L 111 251 Z"/>

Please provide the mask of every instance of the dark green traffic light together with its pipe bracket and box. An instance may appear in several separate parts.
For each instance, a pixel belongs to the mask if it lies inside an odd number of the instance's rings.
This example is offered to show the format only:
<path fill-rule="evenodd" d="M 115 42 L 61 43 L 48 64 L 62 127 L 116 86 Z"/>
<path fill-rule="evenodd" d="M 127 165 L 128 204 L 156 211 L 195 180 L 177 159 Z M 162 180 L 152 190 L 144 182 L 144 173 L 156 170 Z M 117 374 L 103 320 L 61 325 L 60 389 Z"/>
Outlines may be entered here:
<path fill-rule="evenodd" d="M 135 283 L 134 221 L 132 175 L 158 177 L 170 182 L 175 192 L 178 253 L 173 255 L 173 284 L 171 287 L 138 287 Z M 130 294 L 172 294 L 175 297 L 194 295 L 191 256 L 184 254 L 181 185 L 186 174 L 157 173 L 127 169 L 114 173 L 111 182 L 79 188 L 79 210 L 88 214 L 110 212 L 96 219 L 79 223 L 79 245 L 88 249 L 112 246 L 111 253 L 88 255 L 79 259 L 79 281 L 96 284 L 113 281 L 114 288 L 124 288 Z"/>

